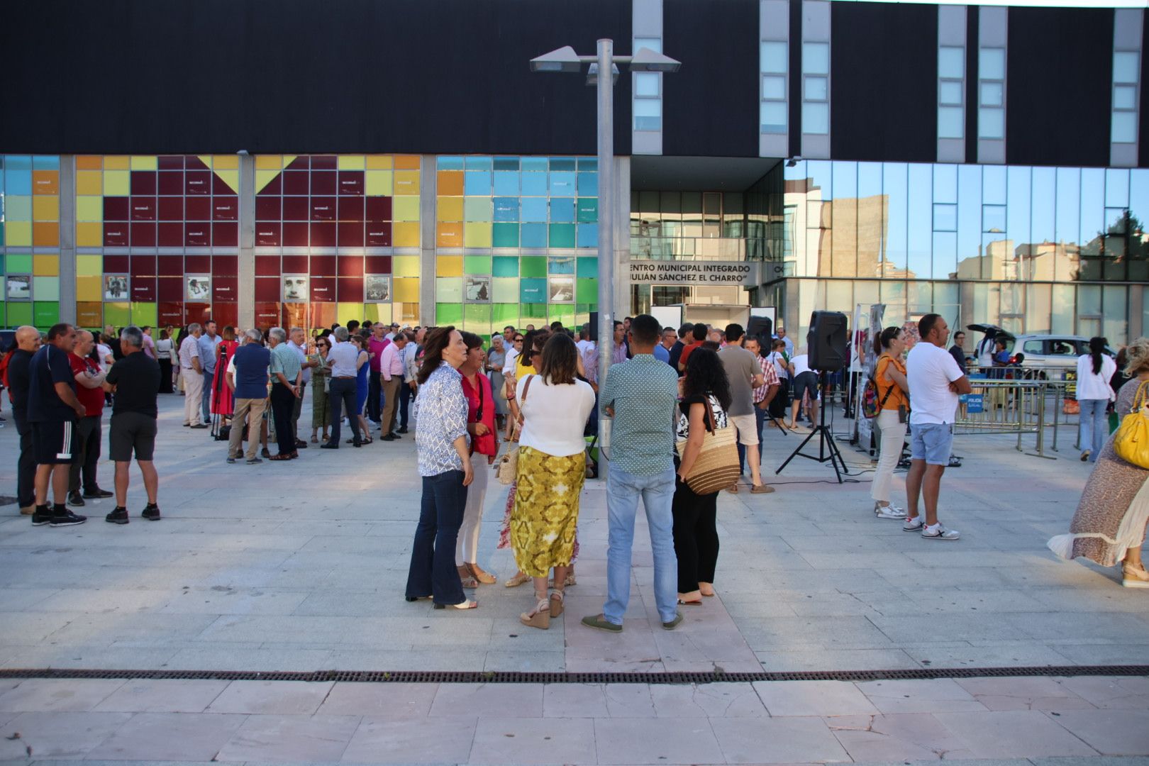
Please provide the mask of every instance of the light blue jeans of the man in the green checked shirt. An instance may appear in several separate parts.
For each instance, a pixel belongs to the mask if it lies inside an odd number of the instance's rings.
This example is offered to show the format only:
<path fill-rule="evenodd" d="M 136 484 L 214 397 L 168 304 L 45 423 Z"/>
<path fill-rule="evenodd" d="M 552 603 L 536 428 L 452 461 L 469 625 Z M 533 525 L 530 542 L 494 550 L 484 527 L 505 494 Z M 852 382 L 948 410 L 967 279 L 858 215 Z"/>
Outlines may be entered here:
<path fill-rule="evenodd" d="M 634 514 L 639 498 L 646 508 L 654 552 L 654 598 L 663 622 L 678 613 L 678 558 L 674 556 L 674 469 L 640 477 L 610 463 L 607 481 L 607 602 L 602 614 L 607 621 L 623 624 L 631 599 L 631 552 L 634 546 Z"/>

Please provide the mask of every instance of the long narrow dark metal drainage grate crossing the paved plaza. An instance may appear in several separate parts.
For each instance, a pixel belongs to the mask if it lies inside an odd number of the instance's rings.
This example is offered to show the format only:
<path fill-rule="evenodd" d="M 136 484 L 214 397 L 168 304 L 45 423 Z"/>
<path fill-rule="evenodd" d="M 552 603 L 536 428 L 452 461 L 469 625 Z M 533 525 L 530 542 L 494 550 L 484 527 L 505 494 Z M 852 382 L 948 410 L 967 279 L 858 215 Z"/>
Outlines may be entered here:
<path fill-rule="evenodd" d="M 345 681 L 352 683 L 719 683 L 753 681 L 900 681 L 1026 675 L 1149 675 L 1149 665 L 923 667 L 892 671 L 761 671 L 757 673 L 523 673 L 515 671 L 94 671 L 5 668 L 0 679 L 194 679 L 213 681 Z"/>

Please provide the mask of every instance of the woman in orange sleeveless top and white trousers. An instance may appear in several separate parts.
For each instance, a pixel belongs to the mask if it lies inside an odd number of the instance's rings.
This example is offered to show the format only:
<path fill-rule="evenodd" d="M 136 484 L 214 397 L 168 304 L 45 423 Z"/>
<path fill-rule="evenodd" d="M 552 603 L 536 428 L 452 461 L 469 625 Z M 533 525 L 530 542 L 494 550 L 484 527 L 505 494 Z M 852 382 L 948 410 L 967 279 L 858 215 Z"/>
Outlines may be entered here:
<path fill-rule="evenodd" d="M 905 362 L 902 353 L 905 340 L 902 328 L 889 326 L 881 331 L 873 341 L 873 350 L 878 362 L 873 369 L 873 381 L 878 388 L 878 417 L 874 421 L 881 434 L 878 442 L 878 469 L 873 474 L 870 497 L 873 500 L 873 513 L 879 519 L 904 519 L 905 509 L 889 502 L 889 486 L 894 481 L 894 469 L 902 457 L 902 444 L 905 443 L 905 421 L 910 411 L 910 384 L 905 378 Z"/>

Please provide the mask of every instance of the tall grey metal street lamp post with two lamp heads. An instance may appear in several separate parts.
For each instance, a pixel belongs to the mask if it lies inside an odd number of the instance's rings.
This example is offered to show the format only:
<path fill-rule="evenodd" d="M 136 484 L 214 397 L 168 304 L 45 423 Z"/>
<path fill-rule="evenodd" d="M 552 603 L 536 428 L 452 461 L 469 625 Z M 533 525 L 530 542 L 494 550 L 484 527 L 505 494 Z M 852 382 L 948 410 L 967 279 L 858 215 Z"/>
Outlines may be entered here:
<path fill-rule="evenodd" d="M 616 64 L 629 63 L 633 72 L 674 72 L 681 63 L 639 48 L 633 56 L 616 56 L 615 41 L 599 40 L 597 54 L 580 56 L 571 46 L 564 46 L 531 60 L 531 71 L 579 73 L 583 64 L 591 64 L 587 85 L 597 87 L 599 96 L 599 386 L 607 380 L 615 336 L 615 79 Z M 599 410 L 600 465 L 607 459 L 609 447 L 607 418 Z"/>

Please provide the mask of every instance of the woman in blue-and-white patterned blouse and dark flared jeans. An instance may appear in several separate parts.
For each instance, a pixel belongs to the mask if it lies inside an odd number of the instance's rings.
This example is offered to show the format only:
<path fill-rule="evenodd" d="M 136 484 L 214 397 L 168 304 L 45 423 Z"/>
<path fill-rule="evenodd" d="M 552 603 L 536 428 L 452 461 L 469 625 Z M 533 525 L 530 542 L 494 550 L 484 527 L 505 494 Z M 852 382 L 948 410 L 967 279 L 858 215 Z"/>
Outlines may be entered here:
<path fill-rule="evenodd" d="M 466 434 L 466 396 L 458 367 L 466 361 L 466 343 L 454 327 L 427 333 L 417 376 L 415 446 L 423 502 L 415 527 L 407 601 L 433 598 L 435 609 L 475 609 L 463 594 L 455 568 L 455 544 L 471 483 L 470 441 Z"/>

